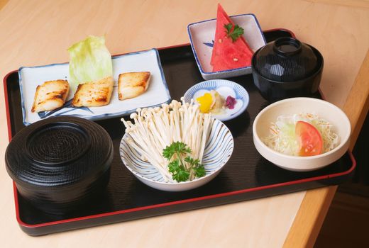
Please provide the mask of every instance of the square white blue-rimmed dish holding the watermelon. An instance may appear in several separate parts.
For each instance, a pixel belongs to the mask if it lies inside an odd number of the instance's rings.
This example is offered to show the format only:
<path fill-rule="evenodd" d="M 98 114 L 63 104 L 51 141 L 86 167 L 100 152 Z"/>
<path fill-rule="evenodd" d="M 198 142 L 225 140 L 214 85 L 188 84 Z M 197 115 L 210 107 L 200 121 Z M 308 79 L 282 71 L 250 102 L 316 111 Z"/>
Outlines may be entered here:
<path fill-rule="evenodd" d="M 253 14 L 248 13 L 230 16 L 230 18 L 235 24 L 238 24 L 238 26 L 244 29 L 243 38 L 245 38 L 253 52 L 266 44 L 258 19 L 256 19 Z M 189 42 L 191 43 L 192 51 L 194 52 L 194 57 L 202 77 L 205 80 L 209 80 L 250 74 L 251 65 L 249 67 L 212 72 L 213 68 L 210 64 L 210 60 L 214 44 L 215 29 L 216 19 L 199 21 L 187 26 Z"/>

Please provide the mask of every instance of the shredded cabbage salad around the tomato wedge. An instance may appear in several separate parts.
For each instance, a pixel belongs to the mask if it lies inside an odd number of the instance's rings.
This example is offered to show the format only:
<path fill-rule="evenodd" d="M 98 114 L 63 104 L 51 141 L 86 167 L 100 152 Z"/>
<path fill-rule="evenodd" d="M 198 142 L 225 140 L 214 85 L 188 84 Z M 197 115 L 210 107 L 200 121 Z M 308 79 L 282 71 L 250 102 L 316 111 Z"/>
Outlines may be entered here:
<path fill-rule="evenodd" d="M 263 139 L 268 147 L 277 152 L 287 155 L 298 156 L 299 144 L 294 135 L 294 128 L 297 121 L 302 120 L 314 125 L 321 134 L 323 140 L 323 151 L 333 150 L 339 143 L 339 137 L 332 130 L 333 126 L 318 115 L 312 113 L 299 113 L 292 116 L 280 115 L 275 123 L 270 125 L 270 135 Z"/>

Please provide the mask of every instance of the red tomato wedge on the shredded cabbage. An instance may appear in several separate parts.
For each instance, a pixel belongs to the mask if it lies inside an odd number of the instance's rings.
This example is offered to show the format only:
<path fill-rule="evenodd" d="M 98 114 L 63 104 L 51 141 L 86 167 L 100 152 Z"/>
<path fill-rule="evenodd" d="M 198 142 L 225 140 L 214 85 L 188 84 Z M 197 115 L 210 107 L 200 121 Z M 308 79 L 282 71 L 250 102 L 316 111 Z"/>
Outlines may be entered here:
<path fill-rule="evenodd" d="M 323 140 L 319 130 L 305 121 L 297 121 L 294 134 L 299 142 L 299 156 L 314 156 L 321 154 Z"/>

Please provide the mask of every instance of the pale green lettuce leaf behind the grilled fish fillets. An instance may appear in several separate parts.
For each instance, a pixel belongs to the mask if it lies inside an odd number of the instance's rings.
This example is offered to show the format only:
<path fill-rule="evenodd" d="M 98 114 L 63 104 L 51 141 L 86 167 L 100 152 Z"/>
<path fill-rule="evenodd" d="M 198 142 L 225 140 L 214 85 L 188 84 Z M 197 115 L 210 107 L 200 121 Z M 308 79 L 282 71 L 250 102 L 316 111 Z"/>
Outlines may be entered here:
<path fill-rule="evenodd" d="M 70 86 L 113 77 L 111 54 L 105 46 L 104 36 L 89 35 L 86 39 L 68 48 L 70 55 Z"/>

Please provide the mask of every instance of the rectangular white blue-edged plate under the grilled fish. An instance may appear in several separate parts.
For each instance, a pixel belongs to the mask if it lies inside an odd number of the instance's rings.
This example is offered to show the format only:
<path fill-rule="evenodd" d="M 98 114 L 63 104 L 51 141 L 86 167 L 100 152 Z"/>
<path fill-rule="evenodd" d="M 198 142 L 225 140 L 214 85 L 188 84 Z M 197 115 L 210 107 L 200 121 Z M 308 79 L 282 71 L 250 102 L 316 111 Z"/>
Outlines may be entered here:
<path fill-rule="evenodd" d="M 69 64 L 48 64 L 38 67 L 21 67 L 18 71 L 19 85 L 21 89 L 21 106 L 23 112 L 23 124 L 30 125 L 50 116 L 71 115 L 89 120 L 101 120 L 129 115 L 136 108 L 160 106 L 171 101 L 169 89 L 165 81 L 163 68 L 160 64 L 158 50 L 151 49 L 142 52 L 131 52 L 125 55 L 112 57 L 114 88 L 110 103 L 99 107 L 73 108 L 70 106 L 75 92 L 70 91 L 67 101 L 62 108 L 55 111 L 32 113 L 31 108 L 38 85 L 45 81 L 57 79 L 69 79 Z M 123 72 L 150 72 L 150 84 L 147 91 L 135 98 L 120 101 L 118 98 L 117 81 L 119 74 Z"/>

